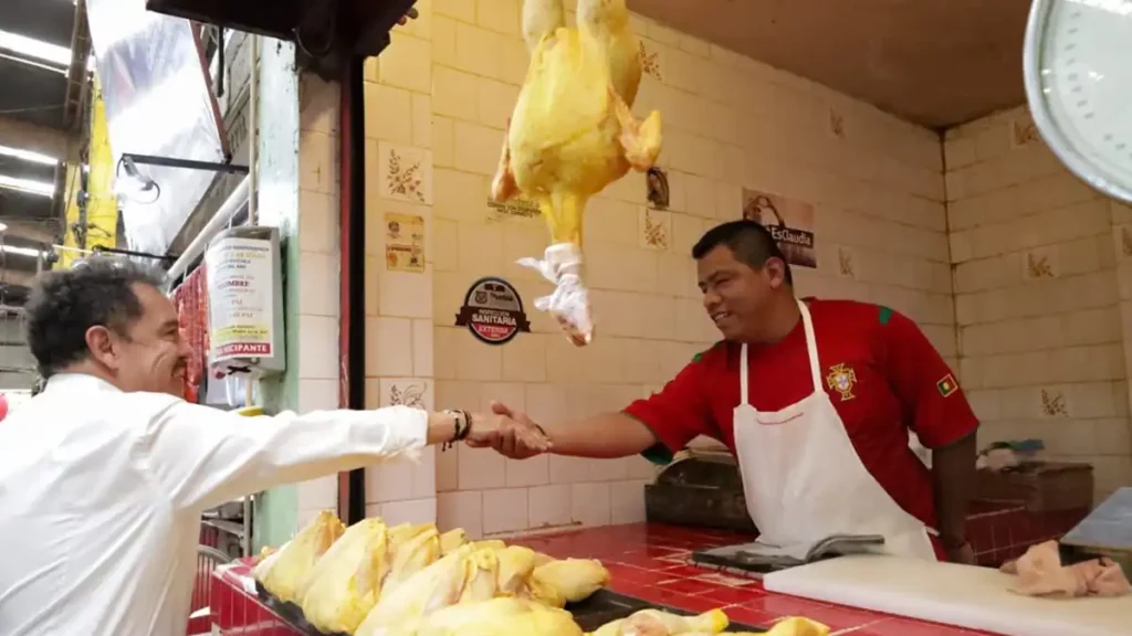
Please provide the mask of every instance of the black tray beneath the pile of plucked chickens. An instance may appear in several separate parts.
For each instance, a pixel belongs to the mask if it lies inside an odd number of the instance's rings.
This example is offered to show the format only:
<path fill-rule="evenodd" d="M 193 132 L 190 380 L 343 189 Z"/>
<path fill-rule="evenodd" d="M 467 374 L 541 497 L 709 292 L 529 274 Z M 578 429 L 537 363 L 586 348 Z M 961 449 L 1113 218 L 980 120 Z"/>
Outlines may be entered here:
<path fill-rule="evenodd" d="M 258 581 L 256 582 L 256 594 L 259 596 L 259 600 L 264 603 L 264 605 L 283 619 L 283 622 L 286 622 L 289 627 L 303 636 L 349 636 L 341 633 L 324 634 L 323 631 L 319 631 L 317 627 L 307 622 L 307 619 L 302 616 L 302 609 L 300 609 L 299 605 L 280 601 L 268 593 Z M 592 596 L 580 603 L 569 603 L 566 605 L 566 611 L 574 614 L 574 621 L 577 622 L 578 627 L 581 627 L 585 633 L 595 631 L 599 627 L 606 625 L 607 622 L 619 618 L 627 618 L 641 610 L 662 610 L 678 616 L 692 616 L 694 613 L 679 608 L 662 605 L 660 603 L 650 603 L 649 601 L 634 596 L 627 596 L 625 594 L 618 594 L 617 592 L 610 592 L 609 590 L 599 590 Z M 761 634 L 766 630 L 761 627 L 753 627 L 741 622 L 732 622 L 728 626 L 727 631 L 753 631 Z"/>

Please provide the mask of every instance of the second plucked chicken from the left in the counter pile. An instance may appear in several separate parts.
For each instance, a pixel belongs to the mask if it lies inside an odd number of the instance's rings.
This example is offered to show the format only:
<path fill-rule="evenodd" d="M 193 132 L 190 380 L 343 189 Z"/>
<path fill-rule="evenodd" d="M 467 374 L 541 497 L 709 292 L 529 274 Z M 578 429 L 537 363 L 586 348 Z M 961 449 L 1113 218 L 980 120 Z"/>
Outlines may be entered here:
<path fill-rule="evenodd" d="M 388 569 L 388 533 L 381 519 L 346 528 L 302 584 L 302 613 L 324 633 L 352 634 L 381 592 Z"/>

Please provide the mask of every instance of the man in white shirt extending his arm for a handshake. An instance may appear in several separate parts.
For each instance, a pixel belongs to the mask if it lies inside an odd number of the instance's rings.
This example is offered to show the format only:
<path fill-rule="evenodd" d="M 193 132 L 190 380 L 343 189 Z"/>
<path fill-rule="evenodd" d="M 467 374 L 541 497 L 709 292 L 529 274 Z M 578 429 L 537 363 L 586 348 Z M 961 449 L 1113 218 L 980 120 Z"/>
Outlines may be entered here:
<path fill-rule="evenodd" d="M 492 414 L 243 418 L 187 403 L 191 350 L 160 284 L 111 258 L 35 283 L 27 340 L 48 384 L 0 427 L 3 636 L 185 634 L 203 510 L 497 435 Z"/>

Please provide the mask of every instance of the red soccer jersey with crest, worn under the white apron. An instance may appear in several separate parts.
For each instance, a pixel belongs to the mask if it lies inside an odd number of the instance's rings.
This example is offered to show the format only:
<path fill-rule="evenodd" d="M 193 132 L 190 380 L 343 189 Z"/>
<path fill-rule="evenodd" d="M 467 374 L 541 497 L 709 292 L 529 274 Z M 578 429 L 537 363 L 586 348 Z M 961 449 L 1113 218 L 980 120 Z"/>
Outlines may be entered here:
<path fill-rule="evenodd" d="M 936 527 L 931 474 L 908 447 L 908 430 L 927 448 L 978 428 L 955 377 L 915 323 L 885 307 L 807 300 L 820 376 L 861 463 L 904 510 Z M 779 411 L 813 393 L 801 321 L 772 345 L 748 346 L 749 399 Z M 739 345 L 720 342 L 696 356 L 648 399 L 625 412 L 670 450 L 698 435 L 735 452 L 732 410 L 739 404 Z"/>

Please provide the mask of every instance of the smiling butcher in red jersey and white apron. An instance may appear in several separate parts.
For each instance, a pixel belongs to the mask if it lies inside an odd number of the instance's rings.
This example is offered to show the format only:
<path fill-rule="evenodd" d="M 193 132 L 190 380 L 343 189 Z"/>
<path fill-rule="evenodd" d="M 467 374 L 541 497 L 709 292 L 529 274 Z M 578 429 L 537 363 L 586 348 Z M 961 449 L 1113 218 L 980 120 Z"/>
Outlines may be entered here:
<path fill-rule="evenodd" d="M 963 525 L 978 420 L 909 318 L 849 300 L 799 301 L 790 267 L 758 223 L 734 221 L 692 250 L 704 308 L 723 340 L 621 413 L 538 427 L 551 453 L 668 457 L 705 435 L 738 458 L 767 551 L 795 555 L 832 534 L 880 534 L 884 550 L 971 562 Z M 928 470 L 908 431 L 933 450 Z M 505 432 L 497 450 L 534 455 Z"/>

